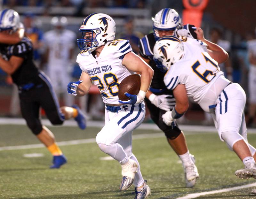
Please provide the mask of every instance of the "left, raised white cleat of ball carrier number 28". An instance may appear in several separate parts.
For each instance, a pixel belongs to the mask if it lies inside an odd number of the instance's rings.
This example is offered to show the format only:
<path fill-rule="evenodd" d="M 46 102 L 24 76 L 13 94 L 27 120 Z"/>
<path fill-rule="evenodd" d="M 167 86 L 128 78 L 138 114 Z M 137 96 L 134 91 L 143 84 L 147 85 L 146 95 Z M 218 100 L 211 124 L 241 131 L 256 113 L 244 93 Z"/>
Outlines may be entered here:
<path fill-rule="evenodd" d="M 128 165 L 122 165 L 122 180 L 119 187 L 120 191 L 125 191 L 129 187 L 131 187 L 135 174 L 137 172 L 138 165 L 137 163 L 129 158 L 129 164 Z"/>

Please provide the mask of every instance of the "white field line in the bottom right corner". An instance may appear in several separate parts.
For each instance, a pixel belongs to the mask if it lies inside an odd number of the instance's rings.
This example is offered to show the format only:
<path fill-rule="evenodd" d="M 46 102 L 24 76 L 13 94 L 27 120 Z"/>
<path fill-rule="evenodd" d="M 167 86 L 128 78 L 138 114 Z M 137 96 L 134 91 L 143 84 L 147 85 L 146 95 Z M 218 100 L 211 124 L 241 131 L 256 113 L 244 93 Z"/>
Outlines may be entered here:
<path fill-rule="evenodd" d="M 254 182 L 252 184 L 248 184 L 248 185 L 237 186 L 237 187 L 231 187 L 231 188 L 219 189 L 219 190 L 214 190 L 214 191 L 205 191 L 205 192 L 200 192 L 200 193 L 188 194 L 188 195 L 182 196 L 180 198 L 176 198 L 176 199 L 192 199 L 192 198 L 197 198 L 197 197 L 202 196 L 202 195 L 218 194 L 218 193 L 234 191 L 234 190 L 243 189 L 243 188 L 250 188 L 250 187 L 255 187 L 255 186 L 256 186 L 256 182 Z"/>

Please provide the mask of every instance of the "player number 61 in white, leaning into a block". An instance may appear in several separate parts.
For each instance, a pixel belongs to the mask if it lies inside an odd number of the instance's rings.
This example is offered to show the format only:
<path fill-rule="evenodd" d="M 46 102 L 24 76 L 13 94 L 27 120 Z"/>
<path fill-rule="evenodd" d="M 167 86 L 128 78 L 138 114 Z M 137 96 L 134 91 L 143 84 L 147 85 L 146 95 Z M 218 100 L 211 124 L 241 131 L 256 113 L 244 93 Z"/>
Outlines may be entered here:
<path fill-rule="evenodd" d="M 220 46 L 204 38 L 201 28 L 197 38 L 180 40 L 175 36 L 160 38 L 154 47 L 154 58 L 168 70 L 166 87 L 173 91 L 176 105 L 167 111 L 163 121 L 170 126 L 188 109 L 188 97 L 212 114 L 221 141 L 243 161 L 245 168 L 237 170 L 238 178 L 256 178 L 256 149 L 247 141 L 244 119 L 246 96 L 243 88 L 224 77 L 218 63 L 228 59 Z"/>

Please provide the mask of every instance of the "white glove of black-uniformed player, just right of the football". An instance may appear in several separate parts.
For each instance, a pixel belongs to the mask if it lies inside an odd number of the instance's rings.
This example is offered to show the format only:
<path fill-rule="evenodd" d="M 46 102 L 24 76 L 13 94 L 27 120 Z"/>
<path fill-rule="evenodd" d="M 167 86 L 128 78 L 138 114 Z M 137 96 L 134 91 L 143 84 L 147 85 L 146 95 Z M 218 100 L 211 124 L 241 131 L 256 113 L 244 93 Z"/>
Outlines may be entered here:
<path fill-rule="evenodd" d="M 175 106 L 175 99 L 173 97 L 172 98 L 167 98 L 167 97 L 172 97 L 172 95 L 157 96 L 152 93 L 148 97 L 148 100 L 159 109 L 162 109 L 164 111 L 171 111 Z"/>

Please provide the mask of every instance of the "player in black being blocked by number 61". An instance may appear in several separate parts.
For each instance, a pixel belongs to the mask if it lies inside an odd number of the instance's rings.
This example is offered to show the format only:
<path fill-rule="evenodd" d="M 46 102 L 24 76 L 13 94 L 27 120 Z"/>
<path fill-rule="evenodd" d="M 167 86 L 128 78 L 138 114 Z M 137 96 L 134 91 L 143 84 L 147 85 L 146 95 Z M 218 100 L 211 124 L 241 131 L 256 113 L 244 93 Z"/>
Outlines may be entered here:
<path fill-rule="evenodd" d="M 140 39 L 139 43 L 140 57 L 155 71 L 145 102 L 147 103 L 151 119 L 164 132 L 168 143 L 182 161 L 186 187 L 193 187 L 196 184 L 199 174 L 195 165 L 195 159 L 188 151 L 185 135 L 178 127 L 176 121 L 173 121 L 172 125 L 168 126 L 162 119 L 162 115 L 166 111 L 173 109 L 175 99 L 172 90 L 168 90 L 164 85 L 163 79 L 165 73 L 163 73 L 161 63 L 157 63 L 158 68 L 156 67 L 156 62 L 153 59 L 153 48 L 157 39 L 166 35 L 174 35 L 176 31 L 190 37 L 196 37 L 196 34 L 194 33 L 194 29 L 192 29 L 193 26 L 186 25 L 183 28 L 180 26 L 180 16 L 171 8 L 160 10 L 157 12 L 155 18 L 152 19 L 154 32 L 145 35 Z"/>

